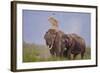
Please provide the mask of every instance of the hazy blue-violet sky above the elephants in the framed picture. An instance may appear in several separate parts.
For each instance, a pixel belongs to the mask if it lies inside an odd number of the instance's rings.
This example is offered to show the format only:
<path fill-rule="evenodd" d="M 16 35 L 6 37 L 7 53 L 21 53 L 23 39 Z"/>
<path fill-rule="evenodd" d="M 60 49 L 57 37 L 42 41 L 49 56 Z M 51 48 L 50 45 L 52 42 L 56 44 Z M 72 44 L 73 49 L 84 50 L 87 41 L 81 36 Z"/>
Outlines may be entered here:
<path fill-rule="evenodd" d="M 23 41 L 45 45 L 44 34 L 51 27 L 50 16 L 58 20 L 60 30 L 66 34 L 78 34 L 90 46 L 91 14 L 83 12 L 23 10 Z"/>

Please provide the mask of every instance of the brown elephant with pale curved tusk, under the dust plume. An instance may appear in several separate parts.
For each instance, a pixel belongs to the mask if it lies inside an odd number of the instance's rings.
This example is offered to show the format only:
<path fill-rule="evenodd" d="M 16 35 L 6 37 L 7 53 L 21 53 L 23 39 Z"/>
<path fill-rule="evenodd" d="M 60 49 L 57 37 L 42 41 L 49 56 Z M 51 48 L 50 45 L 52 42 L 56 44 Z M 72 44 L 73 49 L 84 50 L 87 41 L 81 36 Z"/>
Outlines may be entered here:
<path fill-rule="evenodd" d="M 64 33 L 62 31 L 57 31 L 55 29 L 49 29 L 45 35 L 44 39 L 46 41 L 46 45 L 50 48 L 50 53 L 53 56 L 63 56 L 63 46 L 62 46 L 62 35 Z"/>

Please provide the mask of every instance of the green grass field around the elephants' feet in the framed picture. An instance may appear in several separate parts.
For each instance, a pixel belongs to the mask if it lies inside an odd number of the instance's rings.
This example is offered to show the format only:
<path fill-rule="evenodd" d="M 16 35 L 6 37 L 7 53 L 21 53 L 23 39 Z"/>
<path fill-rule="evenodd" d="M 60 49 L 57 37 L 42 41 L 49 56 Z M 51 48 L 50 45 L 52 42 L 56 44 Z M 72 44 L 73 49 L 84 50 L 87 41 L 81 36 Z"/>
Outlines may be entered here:
<path fill-rule="evenodd" d="M 86 48 L 84 59 L 91 59 L 91 49 Z M 36 44 L 23 44 L 23 62 L 41 62 L 41 61 L 62 61 L 68 60 L 63 57 L 52 57 L 49 49 L 44 45 Z M 80 55 L 77 56 L 76 60 L 81 60 Z"/>

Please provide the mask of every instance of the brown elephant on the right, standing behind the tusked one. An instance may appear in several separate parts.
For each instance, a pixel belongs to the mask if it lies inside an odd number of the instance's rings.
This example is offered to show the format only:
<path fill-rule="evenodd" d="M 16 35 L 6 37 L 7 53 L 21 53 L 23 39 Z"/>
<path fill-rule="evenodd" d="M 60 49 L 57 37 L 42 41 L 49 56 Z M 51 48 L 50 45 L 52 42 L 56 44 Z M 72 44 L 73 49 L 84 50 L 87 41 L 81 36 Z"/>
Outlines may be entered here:
<path fill-rule="evenodd" d="M 76 34 L 65 34 L 62 36 L 62 43 L 67 48 L 63 54 L 71 59 L 71 54 L 73 54 L 73 59 L 76 58 L 78 54 L 81 54 L 83 59 L 86 44 L 85 40 Z"/>

